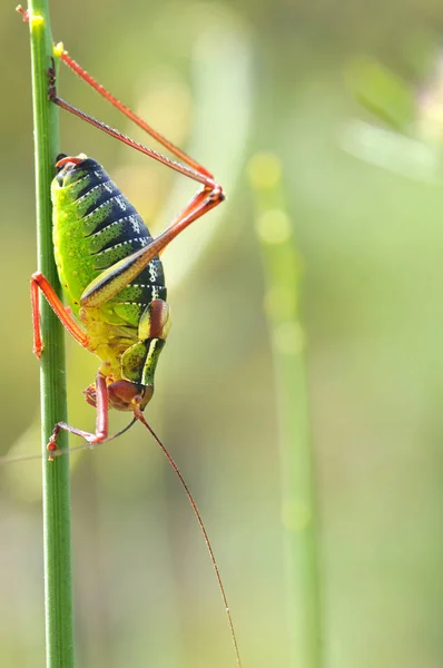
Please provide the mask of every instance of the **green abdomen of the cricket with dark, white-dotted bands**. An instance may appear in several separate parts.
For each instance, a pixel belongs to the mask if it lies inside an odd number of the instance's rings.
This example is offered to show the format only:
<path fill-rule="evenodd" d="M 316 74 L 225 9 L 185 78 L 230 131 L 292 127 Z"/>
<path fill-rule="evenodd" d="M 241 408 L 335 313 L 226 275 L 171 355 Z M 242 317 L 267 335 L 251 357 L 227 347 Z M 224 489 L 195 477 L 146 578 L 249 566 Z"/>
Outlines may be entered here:
<path fill-rule="evenodd" d="M 52 181 L 56 261 L 70 306 L 76 315 L 80 296 L 99 274 L 151 240 L 134 206 L 93 159 L 63 166 Z M 166 301 L 161 262 L 149 265 L 100 307 L 109 324 L 137 327 L 146 306 Z"/>

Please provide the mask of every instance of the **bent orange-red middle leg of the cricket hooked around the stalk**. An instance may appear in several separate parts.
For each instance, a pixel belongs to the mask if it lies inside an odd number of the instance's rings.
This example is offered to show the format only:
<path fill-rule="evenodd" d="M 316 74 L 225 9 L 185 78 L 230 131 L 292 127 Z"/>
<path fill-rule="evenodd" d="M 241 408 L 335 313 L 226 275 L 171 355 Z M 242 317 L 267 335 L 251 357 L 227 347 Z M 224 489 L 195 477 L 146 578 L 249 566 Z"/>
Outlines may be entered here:
<path fill-rule="evenodd" d="M 39 289 L 43 293 L 48 304 L 60 320 L 61 324 L 68 330 L 73 338 L 83 347 L 88 344 L 88 337 L 76 321 L 69 315 L 63 304 L 60 302 L 56 291 L 43 276 L 41 272 L 36 272 L 31 276 L 31 304 L 32 304 L 32 327 L 33 327 L 33 352 L 40 358 L 43 344 L 40 332 L 40 305 Z"/>

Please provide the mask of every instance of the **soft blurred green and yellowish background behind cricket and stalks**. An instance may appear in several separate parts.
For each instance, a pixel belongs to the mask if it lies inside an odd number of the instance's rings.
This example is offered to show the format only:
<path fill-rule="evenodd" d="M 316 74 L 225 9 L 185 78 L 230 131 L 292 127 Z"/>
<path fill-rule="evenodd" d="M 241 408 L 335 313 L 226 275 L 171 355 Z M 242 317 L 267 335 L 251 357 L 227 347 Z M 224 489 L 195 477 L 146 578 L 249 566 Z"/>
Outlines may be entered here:
<path fill-rule="evenodd" d="M 353 119 L 371 120 L 350 68 L 370 57 L 416 87 L 442 28 L 437 0 L 52 2 L 56 40 L 228 193 L 165 253 L 174 324 L 147 418 L 207 523 L 245 668 L 293 668 L 247 177 L 258 151 L 282 163 L 303 256 L 325 666 L 443 662 L 442 180 L 382 169 L 343 141 Z M 38 452 L 40 439 L 33 153 L 28 30 L 4 1 L 0 32 L 1 452 L 18 454 Z M 66 70 L 60 89 L 140 138 Z M 61 149 L 104 164 L 154 232 L 193 191 L 79 120 L 60 120 Z M 93 411 L 81 390 L 96 366 L 68 342 L 70 422 L 83 429 Z M 116 430 L 124 422 L 112 415 Z M 195 519 L 141 425 L 72 460 L 77 665 L 234 666 Z M 38 462 L 0 470 L 2 668 L 45 664 L 39 484 Z"/>

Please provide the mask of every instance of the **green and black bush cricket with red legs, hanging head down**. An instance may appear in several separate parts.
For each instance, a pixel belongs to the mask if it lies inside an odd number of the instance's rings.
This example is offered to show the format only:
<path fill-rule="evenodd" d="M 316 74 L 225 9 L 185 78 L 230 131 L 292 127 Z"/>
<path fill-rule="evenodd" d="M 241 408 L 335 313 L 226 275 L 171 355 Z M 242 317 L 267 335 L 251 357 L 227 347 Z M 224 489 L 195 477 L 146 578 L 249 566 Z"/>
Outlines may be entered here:
<path fill-rule="evenodd" d="M 21 8 L 18 10 L 28 20 L 28 13 Z M 69 311 L 48 279 L 41 272 L 36 272 L 31 276 L 33 352 L 40 357 L 45 350 L 40 332 L 41 292 L 66 330 L 81 346 L 95 353 L 101 364 L 95 383 L 85 390 L 86 401 L 96 407 L 95 433 L 58 422 L 48 443 L 49 460 L 62 454 L 57 449 L 57 436 L 61 430 L 81 436 L 90 446 L 120 435 L 122 432 L 109 436 L 109 407 L 132 413 L 131 423 L 122 431 L 137 421 L 150 431 L 177 473 L 197 517 L 226 609 L 237 665 L 240 666 L 229 607 L 201 517 L 176 463 L 142 414 L 152 397 L 154 375 L 170 326 L 159 254 L 194 220 L 218 206 L 225 195 L 205 167 L 117 100 L 68 55 L 62 45 L 55 47 L 55 57 L 179 161 L 130 139 L 61 99 L 57 94 L 52 58 L 48 69 L 48 96 L 53 104 L 199 183 L 201 188 L 173 223 L 152 238 L 141 216 L 96 160 L 83 154 L 58 156 L 57 174 L 51 186 L 53 245 Z"/>

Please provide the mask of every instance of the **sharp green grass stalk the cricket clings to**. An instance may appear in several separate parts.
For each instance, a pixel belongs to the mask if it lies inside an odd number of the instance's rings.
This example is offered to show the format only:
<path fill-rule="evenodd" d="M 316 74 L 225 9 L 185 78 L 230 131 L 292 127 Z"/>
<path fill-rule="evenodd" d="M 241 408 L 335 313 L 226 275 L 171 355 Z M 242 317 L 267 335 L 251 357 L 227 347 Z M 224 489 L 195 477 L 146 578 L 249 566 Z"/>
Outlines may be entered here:
<path fill-rule="evenodd" d="M 52 247 L 50 185 L 58 154 L 58 110 L 48 101 L 52 56 L 49 8 L 30 0 L 29 28 L 32 56 L 32 97 L 36 150 L 38 267 L 59 289 Z M 61 324 L 45 299 L 41 306 L 43 353 L 40 364 L 43 446 L 45 607 L 47 668 L 73 667 L 72 579 L 70 552 L 69 459 L 48 462 L 46 445 L 56 422 L 67 419 L 65 347 Z M 67 448 L 65 433 L 59 446 Z"/>

